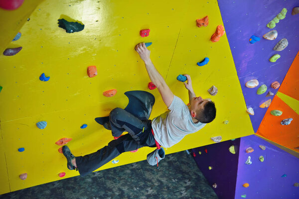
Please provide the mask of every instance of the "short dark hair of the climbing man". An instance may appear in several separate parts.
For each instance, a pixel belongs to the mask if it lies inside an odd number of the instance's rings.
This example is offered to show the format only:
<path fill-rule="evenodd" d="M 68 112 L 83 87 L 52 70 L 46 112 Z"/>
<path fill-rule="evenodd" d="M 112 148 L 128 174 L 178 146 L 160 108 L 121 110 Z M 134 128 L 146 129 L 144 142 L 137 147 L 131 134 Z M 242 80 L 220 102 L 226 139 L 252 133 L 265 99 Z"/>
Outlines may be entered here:
<path fill-rule="evenodd" d="M 201 123 L 210 123 L 216 117 L 216 107 L 213 101 L 208 101 L 204 105 L 204 109 L 200 112 L 196 112 L 196 117 L 199 122 Z"/>

